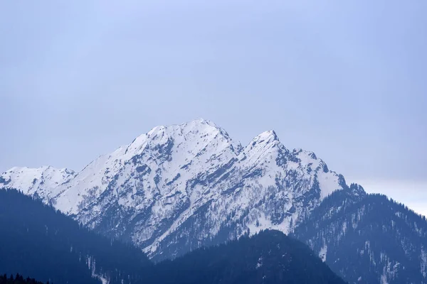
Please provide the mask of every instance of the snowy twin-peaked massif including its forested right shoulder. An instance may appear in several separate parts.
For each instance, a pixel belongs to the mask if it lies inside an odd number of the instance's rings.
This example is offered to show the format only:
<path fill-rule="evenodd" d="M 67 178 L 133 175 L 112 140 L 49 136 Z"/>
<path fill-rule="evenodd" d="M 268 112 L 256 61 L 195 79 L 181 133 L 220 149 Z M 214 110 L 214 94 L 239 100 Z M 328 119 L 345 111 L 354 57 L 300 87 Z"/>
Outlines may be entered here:
<path fill-rule="evenodd" d="M 349 283 L 426 283 L 427 222 L 348 186 L 274 131 L 247 146 L 211 121 L 157 126 L 79 173 L 11 168 L 0 188 L 52 204 L 154 260 L 262 229 L 305 241 Z"/>

